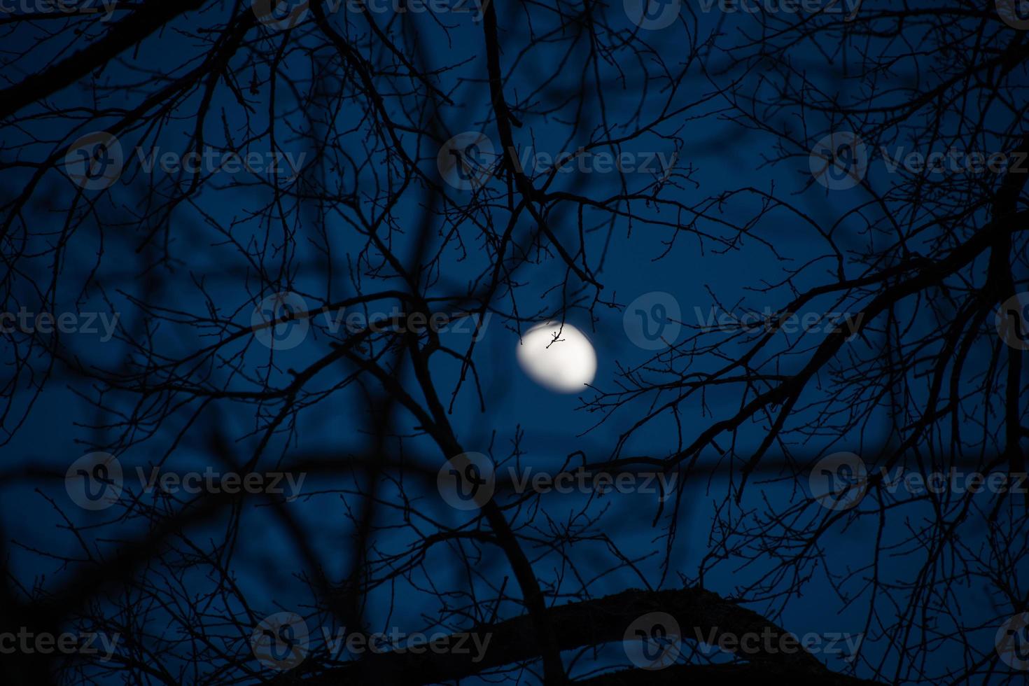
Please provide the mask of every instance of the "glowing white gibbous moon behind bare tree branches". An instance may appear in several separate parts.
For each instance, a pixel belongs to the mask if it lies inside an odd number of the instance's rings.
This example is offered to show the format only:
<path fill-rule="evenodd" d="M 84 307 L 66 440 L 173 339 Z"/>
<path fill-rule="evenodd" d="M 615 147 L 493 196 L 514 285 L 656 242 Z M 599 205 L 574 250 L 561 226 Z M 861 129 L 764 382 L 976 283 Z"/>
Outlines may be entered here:
<path fill-rule="evenodd" d="M 593 345 L 567 323 L 545 322 L 526 331 L 518 347 L 518 361 L 532 381 L 558 393 L 582 391 L 597 374 Z"/>

